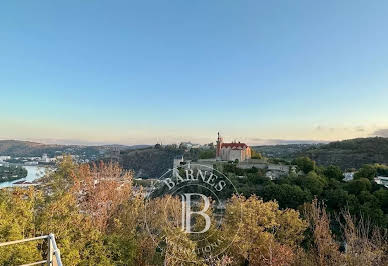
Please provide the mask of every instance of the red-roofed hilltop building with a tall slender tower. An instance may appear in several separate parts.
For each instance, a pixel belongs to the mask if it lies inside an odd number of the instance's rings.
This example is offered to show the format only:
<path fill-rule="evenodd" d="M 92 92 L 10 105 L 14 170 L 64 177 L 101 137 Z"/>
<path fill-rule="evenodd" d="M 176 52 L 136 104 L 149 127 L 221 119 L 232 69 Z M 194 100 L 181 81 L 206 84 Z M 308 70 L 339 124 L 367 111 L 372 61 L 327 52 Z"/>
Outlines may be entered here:
<path fill-rule="evenodd" d="M 224 143 L 220 132 L 218 132 L 216 159 L 242 162 L 251 159 L 251 148 L 240 142 Z"/>

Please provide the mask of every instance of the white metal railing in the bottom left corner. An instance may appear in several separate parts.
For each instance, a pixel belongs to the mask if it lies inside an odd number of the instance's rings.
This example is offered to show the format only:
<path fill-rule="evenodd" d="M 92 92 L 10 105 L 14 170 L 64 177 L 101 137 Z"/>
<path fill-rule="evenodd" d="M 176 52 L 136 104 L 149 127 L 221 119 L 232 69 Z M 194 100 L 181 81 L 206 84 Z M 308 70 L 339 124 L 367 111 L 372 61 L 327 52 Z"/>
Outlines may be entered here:
<path fill-rule="evenodd" d="M 0 247 L 20 244 L 24 242 L 36 241 L 40 239 L 47 239 L 47 259 L 28 263 L 28 264 L 23 264 L 21 266 L 30 266 L 30 265 L 39 265 L 39 264 L 46 264 L 48 266 L 62 266 L 61 253 L 57 248 L 57 243 L 55 242 L 54 234 L 4 242 L 4 243 L 0 243 Z"/>

